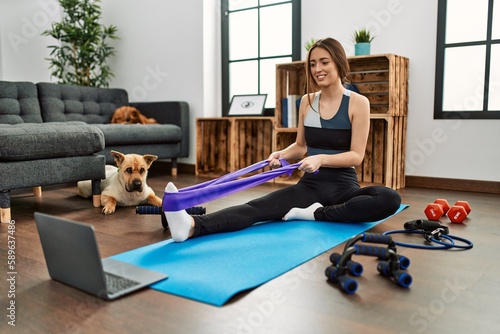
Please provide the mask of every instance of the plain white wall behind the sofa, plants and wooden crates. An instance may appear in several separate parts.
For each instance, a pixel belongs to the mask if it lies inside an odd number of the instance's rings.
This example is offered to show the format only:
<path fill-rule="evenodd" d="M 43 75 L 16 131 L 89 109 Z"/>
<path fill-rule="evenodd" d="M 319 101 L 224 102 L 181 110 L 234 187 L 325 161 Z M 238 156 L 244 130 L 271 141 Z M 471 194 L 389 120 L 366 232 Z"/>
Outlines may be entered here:
<path fill-rule="evenodd" d="M 220 115 L 220 0 L 105 0 L 104 24 L 118 26 L 111 86 L 131 100 L 184 100 L 195 118 Z M 49 81 L 39 36 L 55 0 L 0 0 L 0 79 Z M 410 59 L 407 175 L 500 181 L 499 120 L 434 120 L 437 0 L 304 0 L 302 41 L 334 37 L 353 54 L 352 31 L 377 33 L 372 53 Z M 37 33 L 35 33 L 35 31 Z M 13 43 L 13 37 L 19 36 Z M 305 56 L 305 54 L 304 54 Z"/>

